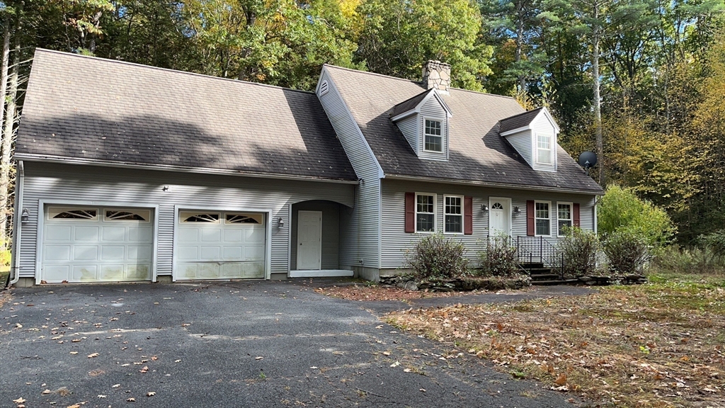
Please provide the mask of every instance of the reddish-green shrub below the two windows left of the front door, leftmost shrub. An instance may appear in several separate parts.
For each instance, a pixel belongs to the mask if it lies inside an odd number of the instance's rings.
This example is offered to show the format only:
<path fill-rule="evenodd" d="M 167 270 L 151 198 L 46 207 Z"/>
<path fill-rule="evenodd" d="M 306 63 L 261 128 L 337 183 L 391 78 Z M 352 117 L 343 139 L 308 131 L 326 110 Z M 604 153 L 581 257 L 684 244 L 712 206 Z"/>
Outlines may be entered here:
<path fill-rule="evenodd" d="M 405 252 L 405 261 L 419 278 L 460 277 L 468 272 L 465 245 L 436 233 L 421 238 L 412 251 Z"/>

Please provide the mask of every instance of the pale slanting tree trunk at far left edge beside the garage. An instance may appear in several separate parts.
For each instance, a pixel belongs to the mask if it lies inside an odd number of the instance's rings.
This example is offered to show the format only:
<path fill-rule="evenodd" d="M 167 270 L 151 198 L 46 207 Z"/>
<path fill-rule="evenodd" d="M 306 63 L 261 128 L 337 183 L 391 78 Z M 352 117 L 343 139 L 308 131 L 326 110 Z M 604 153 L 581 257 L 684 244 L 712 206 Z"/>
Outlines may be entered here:
<path fill-rule="evenodd" d="M 0 156 L 0 239 L 2 245 L 7 241 L 8 230 L 8 192 L 10 191 L 10 170 L 12 168 L 10 159 L 10 150 L 12 150 L 12 140 L 14 137 L 15 114 L 17 113 L 17 85 L 20 76 L 20 13 L 17 14 L 17 21 L 13 30 L 15 36 L 15 46 L 12 55 L 12 73 L 10 73 L 10 89 L 8 92 L 7 110 L 5 110 L 5 123 L 2 134 L 1 156 Z"/>

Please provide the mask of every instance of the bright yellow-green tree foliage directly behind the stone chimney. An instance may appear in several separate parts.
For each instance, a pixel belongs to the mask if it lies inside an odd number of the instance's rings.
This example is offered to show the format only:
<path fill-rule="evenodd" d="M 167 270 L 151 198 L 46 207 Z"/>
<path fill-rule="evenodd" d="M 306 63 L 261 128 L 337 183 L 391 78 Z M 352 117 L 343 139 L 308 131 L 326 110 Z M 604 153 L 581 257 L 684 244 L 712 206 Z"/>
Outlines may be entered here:
<path fill-rule="evenodd" d="M 481 14 L 470 0 L 366 0 L 356 58 L 369 70 L 421 80 L 421 64 L 451 65 L 452 83 L 480 91 L 492 46 L 479 43 Z"/>

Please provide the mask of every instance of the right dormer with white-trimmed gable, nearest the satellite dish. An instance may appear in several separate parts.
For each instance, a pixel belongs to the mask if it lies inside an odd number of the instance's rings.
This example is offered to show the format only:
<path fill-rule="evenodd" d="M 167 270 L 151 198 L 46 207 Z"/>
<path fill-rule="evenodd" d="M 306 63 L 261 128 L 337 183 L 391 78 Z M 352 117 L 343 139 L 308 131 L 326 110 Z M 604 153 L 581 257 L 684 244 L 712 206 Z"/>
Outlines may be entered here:
<path fill-rule="evenodd" d="M 556 171 L 559 126 L 546 107 L 502 119 L 499 134 L 534 170 Z"/>

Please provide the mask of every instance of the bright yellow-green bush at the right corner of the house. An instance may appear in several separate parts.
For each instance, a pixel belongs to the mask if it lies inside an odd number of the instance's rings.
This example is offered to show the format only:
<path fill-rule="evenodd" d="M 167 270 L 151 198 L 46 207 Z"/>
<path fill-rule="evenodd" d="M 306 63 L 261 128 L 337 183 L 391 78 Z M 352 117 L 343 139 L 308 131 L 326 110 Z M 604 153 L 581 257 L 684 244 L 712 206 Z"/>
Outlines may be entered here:
<path fill-rule="evenodd" d="M 604 237 L 614 232 L 628 232 L 655 246 L 668 242 L 676 231 L 665 211 L 617 185 L 607 189 L 597 211 L 597 227 Z"/>

